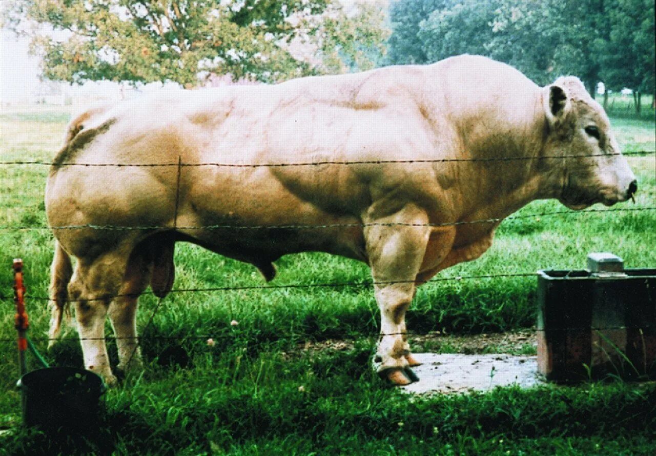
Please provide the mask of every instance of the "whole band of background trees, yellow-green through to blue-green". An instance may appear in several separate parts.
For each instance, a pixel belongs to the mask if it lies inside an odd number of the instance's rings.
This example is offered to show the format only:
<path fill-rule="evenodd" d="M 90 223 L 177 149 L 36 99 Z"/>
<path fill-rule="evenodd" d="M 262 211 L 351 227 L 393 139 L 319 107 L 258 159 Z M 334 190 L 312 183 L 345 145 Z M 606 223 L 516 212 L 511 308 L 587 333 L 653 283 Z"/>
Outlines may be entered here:
<path fill-rule="evenodd" d="M 3 0 L 54 81 L 204 85 L 482 54 L 541 85 L 654 94 L 653 0 Z M 600 86 L 599 83 L 604 83 Z"/>

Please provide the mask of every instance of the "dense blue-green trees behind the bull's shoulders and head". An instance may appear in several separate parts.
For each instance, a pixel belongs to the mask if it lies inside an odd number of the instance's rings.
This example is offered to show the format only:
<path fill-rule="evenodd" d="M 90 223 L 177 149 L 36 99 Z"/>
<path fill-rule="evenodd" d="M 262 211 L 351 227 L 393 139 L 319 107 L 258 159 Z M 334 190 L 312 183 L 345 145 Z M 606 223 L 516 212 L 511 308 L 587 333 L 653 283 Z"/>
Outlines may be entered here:
<path fill-rule="evenodd" d="M 393 0 L 388 63 L 483 54 L 540 84 L 654 90 L 652 0 Z"/>

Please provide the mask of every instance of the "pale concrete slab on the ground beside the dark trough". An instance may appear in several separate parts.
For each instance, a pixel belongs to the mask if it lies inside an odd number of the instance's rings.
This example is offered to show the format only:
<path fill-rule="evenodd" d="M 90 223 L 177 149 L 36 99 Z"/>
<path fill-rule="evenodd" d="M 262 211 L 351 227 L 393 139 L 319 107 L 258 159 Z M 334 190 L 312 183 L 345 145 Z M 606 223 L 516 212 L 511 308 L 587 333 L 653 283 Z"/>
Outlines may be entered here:
<path fill-rule="evenodd" d="M 530 388 L 546 383 L 537 372 L 537 356 L 434 353 L 413 353 L 413 356 L 422 363 L 413 367 L 419 382 L 402 389 L 415 394 L 487 391 L 512 384 Z"/>

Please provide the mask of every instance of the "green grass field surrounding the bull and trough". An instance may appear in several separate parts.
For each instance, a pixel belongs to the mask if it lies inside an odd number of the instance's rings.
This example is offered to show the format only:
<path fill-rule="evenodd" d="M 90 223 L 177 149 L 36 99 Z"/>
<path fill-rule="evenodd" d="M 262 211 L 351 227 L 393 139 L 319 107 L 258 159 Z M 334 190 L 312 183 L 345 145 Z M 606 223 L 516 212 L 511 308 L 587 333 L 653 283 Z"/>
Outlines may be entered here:
<path fill-rule="evenodd" d="M 3 110 L 0 161 L 48 161 L 68 117 L 61 108 Z M 613 126 L 624 150 L 654 150 L 653 120 L 618 118 Z M 420 288 L 407 318 L 410 330 L 462 335 L 533 326 L 534 277 L 468 277 L 581 269 L 592 251 L 611 251 L 629 268 L 654 267 L 656 211 L 614 211 L 656 207 L 654 155 L 629 161 L 640 182 L 636 205 L 531 216 L 565 211 L 556 201 L 531 203 L 516 214 L 519 218 L 502 223 L 481 259 L 440 276 L 462 279 Z M 365 265 L 319 253 L 283 257 L 268 289 L 172 293 L 150 325 L 157 302 L 142 297 L 138 323 L 148 339 L 143 346 L 147 368 L 106 394 L 102 443 L 93 444 L 98 446 L 51 442 L 20 430 L 11 261 L 21 257 L 26 264 L 30 335 L 45 353 L 49 316 L 37 298 L 47 295 L 52 257 L 52 235 L 39 228 L 45 226 L 47 171 L 39 165 L 0 165 L 0 428 L 9 429 L 0 434 L 0 454 L 90 449 L 140 455 L 656 452 L 653 384 L 504 388 L 429 398 L 408 398 L 390 388 L 369 369 L 378 333 L 370 287 L 279 287 L 370 280 Z M 176 250 L 176 274 L 178 289 L 264 285 L 252 266 L 193 245 Z M 239 324 L 230 325 L 232 320 Z M 81 365 L 76 337 L 68 329 L 64 341 L 46 355 L 49 362 Z M 215 346 L 207 345 L 207 337 Z M 349 348 L 302 350 L 304 344 L 320 346 L 329 339 L 348 340 Z M 439 345 L 443 351 L 458 350 L 448 342 Z M 114 356 L 113 343 L 108 346 Z M 172 356 L 180 349 L 184 356 Z M 531 350 L 529 345 L 523 352 Z"/>

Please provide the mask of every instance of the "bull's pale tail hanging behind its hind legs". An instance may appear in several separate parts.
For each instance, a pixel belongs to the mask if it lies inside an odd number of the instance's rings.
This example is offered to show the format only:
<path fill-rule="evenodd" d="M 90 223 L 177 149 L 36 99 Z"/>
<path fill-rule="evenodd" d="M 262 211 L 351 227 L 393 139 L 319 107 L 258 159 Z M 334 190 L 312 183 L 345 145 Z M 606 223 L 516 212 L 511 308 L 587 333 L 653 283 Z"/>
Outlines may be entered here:
<path fill-rule="evenodd" d="M 50 348 L 62 328 L 62 320 L 68 302 L 68 282 L 73 275 L 73 266 L 68 253 L 58 241 L 54 241 L 54 258 L 50 268 L 50 331 L 48 333 Z"/>

